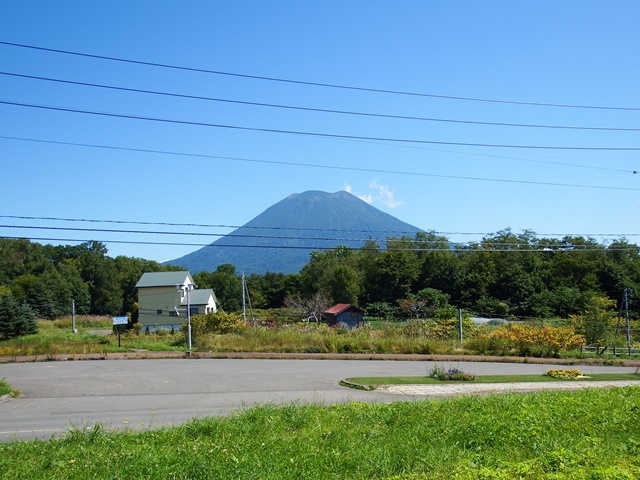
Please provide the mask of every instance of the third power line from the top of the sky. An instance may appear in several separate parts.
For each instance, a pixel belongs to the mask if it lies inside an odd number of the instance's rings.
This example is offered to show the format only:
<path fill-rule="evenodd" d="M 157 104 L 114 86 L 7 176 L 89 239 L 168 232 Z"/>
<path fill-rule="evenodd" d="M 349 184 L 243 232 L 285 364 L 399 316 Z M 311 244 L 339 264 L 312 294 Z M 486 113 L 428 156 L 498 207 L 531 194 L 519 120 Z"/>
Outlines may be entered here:
<path fill-rule="evenodd" d="M 51 105 L 36 105 L 32 103 L 10 102 L 7 100 L 0 100 L 0 104 L 12 105 L 17 107 L 38 108 L 38 109 L 58 111 L 58 112 L 80 113 L 83 115 L 96 115 L 96 116 L 110 117 L 110 118 L 126 118 L 129 120 L 143 120 L 143 121 L 149 121 L 149 122 L 171 123 L 171 124 L 179 124 L 179 125 L 198 126 L 198 127 L 224 128 L 229 130 L 252 131 L 252 132 L 263 132 L 263 133 L 303 135 L 303 136 L 320 137 L 320 138 L 379 140 L 383 142 L 430 144 L 430 145 L 457 145 L 462 147 L 482 147 L 482 148 L 522 148 L 522 149 L 529 149 L 529 150 L 531 149 L 533 150 L 580 150 L 580 151 L 619 151 L 619 152 L 640 151 L 640 147 L 570 147 L 570 146 L 557 146 L 557 145 L 509 145 L 509 144 L 494 144 L 494 143 L 445 142 L 445 141 L 436 141 L 436 140 L 417 140 L 417 139 L 407 139 L 407 138 L 367 137 L 367 136 L 360 136 L 360 135 L 340 135 L 335 133 L 324 133 L 324 132 L 322 133 L 321 132 L 303 132 L 298 130 L 280 130 L 275 128 L 245 127 L 241 125 L 195 122 L 195 121 L 188 121 L 188 120 L 145 117 L 141 115 L 125 115 L 120 113 L 99 112 L 99 111 L 93 111 L 93 110 L 80 110 L 77 108 L 55 107 Z"/>

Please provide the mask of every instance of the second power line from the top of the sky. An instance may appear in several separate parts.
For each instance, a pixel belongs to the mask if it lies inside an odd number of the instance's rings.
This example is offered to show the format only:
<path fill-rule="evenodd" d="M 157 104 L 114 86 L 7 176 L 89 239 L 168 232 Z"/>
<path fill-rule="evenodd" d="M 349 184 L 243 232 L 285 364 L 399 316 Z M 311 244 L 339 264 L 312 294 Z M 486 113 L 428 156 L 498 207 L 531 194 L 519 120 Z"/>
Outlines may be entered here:
<path fill-rule="evenodd" d="M 331 114 L 339 114 L 339 115 L 354 115 L 354 116 L 364 116 L 364 117 L 374 117 L 374 118 L 386 118 L 386 119 L 394 119 L 394 120 L 415 120 L 415 121 L 423 121 L 423 122 L 440 122 L 440 123 L 456 123 L 456 124 L 465 124 L 465 125 L 485 125 L 485 126 L 493 126 L 493 127 L 521 127 L 521 128 L 549 128 L 549 129 L 567 129 L 567 130 L 590 130 L 590 131 L 613 131 L 613 132 L 639 132 L 640 128 L 622 128 L 622 127 L 584 127 L 584 126 L 576 126 L 576 125 L 541 125 L 541 124 L 529 124 L 529 123 L 509 123 L 509 122 L 485 122 L 485 121 L 474 121 L 474 120 L 459 120 L 459 119 L 449 119 L 449 118 L 430 118 L 430 117 L 415 117 L 415 116 L 405 116 L 405 115 L 392 115 L 392 114 L 383 114 L 383 113 L 371 113 L 371 112 L 355 112 L 349 110 L 334 110 L 334 109 L 326 109 L 326 108 L 312 108 L 312 107 L 301 107 L 297 105 L 283 105 L 283 104 L 275 104 L 275 103 L 262 103 L 262 102 L 249 102 L 244 100 L 232 100 L 226 98 L 214 98 L 214 97 L 205 97 L 200 95 L 187 95 L 180 94 L 174 92 L 160 92 L 156 90 L 145 90 L 139 88 L 130 88 L 130 87 L 118 87 L 114 85 L 104 85 L 98 83 L 88 83 L 88 82 L 79 82 L 74 80 L 63 80 L 58 78 L 50 78 L 50 77 L 40 77 L 35 75 L 23 75 L 18 73 L 11 72 L 1 72 L 0 75 L 19 77 L 19 78 L 28 78 L 32 80 L 42 80 L 47 82 L 56 82 L 56 83 L 64 83 L 68 85 L 79 85 L 84 87 L 93 87 L 93 88 L 102 88 L 108 90 L 117 90 L 123 92 L 131 92 L 131 93 L 144 93 L 149 95 L 160 95 L 165 97 L 173 97 L 173 98 L 186 98 L 191 100 L 205 100 L 210 102 L 221 102 L 221 103 L 233 103 L 238 105 L 249 105 L 254 107 L 269 107 L 269 108 L 282 108 L 288 110 L 298 110 L 305 112 L 317 112 L 317 113 L 331 113 Z"/>

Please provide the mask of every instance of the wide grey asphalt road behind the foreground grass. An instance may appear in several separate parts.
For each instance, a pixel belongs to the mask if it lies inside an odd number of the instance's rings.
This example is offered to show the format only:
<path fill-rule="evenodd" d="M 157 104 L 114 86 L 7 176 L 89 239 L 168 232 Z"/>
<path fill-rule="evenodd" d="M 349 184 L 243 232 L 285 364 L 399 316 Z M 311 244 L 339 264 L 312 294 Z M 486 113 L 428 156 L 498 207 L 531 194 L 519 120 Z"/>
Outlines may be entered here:
<path fill-rule="evenodd" d="M 555 365 L 438 362 L 477 375 L 540 374 Z M 434 362 L 170 359 L 14 363 L 0 378 L 22 393 L 0 400 L 0 441 L 50 438 L 70 427 L 149 428 L 256 404 L 424 398 L 338 385 L 347 377 L 424 375 Z M 581 367 L 585 374 L 633 367 Z"/>

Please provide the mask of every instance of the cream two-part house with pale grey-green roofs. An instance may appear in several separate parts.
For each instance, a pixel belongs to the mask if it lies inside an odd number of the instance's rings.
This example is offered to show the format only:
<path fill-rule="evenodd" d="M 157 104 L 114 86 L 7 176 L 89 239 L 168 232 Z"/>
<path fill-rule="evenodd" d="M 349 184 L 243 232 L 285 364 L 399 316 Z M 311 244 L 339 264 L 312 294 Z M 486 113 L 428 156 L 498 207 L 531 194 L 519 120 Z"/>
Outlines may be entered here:
<path fill-rule="evenodd" d="M 138 323 L 142 328 L 179 328 L 186 321 L 187 302 L 191 315 L 215 312 L 213 290 L 196 290 L 187 271 L 147 272 L 136 284 L 138 289 Z"/>

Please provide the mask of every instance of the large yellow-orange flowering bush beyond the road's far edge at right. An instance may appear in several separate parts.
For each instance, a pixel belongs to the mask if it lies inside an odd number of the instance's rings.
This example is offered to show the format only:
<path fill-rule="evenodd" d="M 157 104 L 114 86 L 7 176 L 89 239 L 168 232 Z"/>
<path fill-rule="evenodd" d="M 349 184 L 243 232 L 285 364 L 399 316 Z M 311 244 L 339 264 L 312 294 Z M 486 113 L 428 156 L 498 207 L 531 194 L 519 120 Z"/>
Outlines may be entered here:
<path fill-rule="evenodd" d="M 482 333 L 476 343 L 484 345 L 483 353 L 556 357 L 584 344 L 584 336 L 573 327 L 550 325 L 509 324 Z"/>

